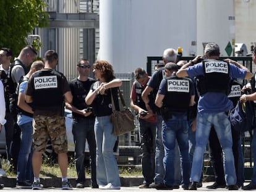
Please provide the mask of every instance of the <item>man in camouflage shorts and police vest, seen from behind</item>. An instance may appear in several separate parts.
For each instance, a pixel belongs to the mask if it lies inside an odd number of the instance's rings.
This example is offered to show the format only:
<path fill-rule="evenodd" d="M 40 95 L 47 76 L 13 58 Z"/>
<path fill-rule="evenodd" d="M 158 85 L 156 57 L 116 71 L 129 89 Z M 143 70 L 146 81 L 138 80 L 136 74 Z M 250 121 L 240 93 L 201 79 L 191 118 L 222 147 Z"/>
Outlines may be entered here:
<path fill-rule="evenodd" d="M 72 102 L 72 94 L 66 77 L 55 70 L 58 54 L 54 50 L 46 51 L 45 69 L 33 73 L 28 80 L 25 101 L 33 102 L 33 145 L 32 157 L 34 182 L 33 190 L 40 190 L 40 168 L 42 153 L 48 138 L 54 152 L 58 154 L 58 163 L 62 173 L 62 189 L 69 190 L 67 181 L 67 135 L 64 117 L 64 102 Z"/>

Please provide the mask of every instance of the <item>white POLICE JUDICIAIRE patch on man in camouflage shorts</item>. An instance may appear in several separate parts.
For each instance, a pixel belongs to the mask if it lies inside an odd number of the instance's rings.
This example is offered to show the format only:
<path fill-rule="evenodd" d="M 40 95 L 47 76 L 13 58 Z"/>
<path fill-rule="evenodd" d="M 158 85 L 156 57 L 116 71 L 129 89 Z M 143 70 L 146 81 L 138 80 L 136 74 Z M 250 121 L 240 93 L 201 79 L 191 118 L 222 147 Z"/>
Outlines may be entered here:
<path fill-rule="evenodd" d="M 35 90 L 58 88 L 57 76 L 43 76 L 34 78 Z"/>

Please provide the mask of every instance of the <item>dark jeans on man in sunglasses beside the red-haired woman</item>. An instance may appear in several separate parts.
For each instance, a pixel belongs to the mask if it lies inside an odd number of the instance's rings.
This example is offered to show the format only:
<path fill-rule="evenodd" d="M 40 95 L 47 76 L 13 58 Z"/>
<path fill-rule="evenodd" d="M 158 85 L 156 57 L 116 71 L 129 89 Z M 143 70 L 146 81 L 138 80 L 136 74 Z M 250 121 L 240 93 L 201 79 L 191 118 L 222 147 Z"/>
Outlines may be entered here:
<path fill-rule="evenodd" d="M 92 185 L 96 185 L 96 141 L 93 118 L 72 119 L 72 133 L 75 143 L 75 168 L 77 183 L 85 183 L 85 143 L 88 142 L 90 151 Z"/>

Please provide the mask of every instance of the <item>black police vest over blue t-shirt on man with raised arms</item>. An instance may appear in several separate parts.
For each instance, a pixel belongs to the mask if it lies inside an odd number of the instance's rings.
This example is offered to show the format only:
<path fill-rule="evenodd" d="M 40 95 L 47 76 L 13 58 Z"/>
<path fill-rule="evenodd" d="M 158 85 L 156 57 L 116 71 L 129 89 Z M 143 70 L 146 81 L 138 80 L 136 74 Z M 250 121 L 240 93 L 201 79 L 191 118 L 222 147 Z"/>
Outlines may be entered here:
<path fill-rule="evenodd" d="M 203 61 L 203 75 L 198 76 L 197 88 L 200 95 L 220 92 L 228 95 L 230 88 L 230 66 L 228 62 L 206 59 Z"/>

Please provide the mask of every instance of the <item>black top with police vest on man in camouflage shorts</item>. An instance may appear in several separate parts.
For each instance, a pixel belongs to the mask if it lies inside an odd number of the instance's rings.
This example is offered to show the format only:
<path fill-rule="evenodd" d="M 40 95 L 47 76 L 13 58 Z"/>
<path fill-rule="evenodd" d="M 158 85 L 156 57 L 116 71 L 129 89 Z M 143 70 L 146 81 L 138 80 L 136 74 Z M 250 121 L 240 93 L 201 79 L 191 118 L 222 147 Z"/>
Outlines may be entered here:
<path fill-rule="evenodd" d="M 28 80 L 25 94 L 32 96 L 34 115 L 64 115 L 64 94 L 70 91 L 67 78 L 54 69 L 42 69 Z"/>

